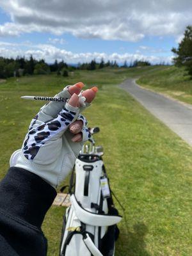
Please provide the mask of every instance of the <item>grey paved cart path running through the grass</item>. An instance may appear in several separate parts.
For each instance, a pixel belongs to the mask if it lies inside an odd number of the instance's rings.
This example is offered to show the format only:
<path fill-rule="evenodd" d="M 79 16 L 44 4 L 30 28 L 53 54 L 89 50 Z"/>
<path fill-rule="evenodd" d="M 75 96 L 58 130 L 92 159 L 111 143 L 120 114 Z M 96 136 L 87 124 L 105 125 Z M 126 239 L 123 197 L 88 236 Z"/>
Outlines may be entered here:
<path fill-rule="evenodd" d="M 192 106 L 143 89 L 135 83 L 134 79 L 124 81 L 120 87 L 192 146 Z"/>

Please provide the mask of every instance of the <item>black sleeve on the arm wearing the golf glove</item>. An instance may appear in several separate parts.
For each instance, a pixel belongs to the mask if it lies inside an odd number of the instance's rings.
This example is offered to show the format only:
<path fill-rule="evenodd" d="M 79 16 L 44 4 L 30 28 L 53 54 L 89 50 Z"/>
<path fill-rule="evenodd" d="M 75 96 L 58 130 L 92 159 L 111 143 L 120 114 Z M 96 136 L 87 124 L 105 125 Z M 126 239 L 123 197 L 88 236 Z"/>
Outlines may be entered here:
<path fill-rule="evenodd" d="M 41 225 L 56 190 L 38 175 L 12 167 L 0 183 L 0 255 L 44 256 Z"/>

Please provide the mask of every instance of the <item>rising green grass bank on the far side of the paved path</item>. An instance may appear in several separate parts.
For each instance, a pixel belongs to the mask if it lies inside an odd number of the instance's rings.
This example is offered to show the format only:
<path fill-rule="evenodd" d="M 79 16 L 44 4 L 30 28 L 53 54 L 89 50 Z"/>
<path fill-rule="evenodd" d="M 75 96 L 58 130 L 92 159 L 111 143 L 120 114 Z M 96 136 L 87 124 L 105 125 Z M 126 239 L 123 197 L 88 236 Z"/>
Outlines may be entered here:
<path fill-rule="evenodd" d="M 137 83 L 150 90 L 192 104 L 192 79 L 184 68 L 160 66 L 152 72 L 141 74 Z"/>

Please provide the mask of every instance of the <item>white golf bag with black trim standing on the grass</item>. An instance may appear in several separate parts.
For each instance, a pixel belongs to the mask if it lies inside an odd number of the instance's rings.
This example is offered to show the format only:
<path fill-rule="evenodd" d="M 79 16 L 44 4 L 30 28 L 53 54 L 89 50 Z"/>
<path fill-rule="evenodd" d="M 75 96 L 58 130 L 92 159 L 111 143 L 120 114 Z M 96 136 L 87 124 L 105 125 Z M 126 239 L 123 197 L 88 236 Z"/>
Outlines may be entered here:
<path fill-rule="evenodd" d="M 69 188 L 71 205 L 63 218 L 60 255 L 115 255 L 116 224 L 122 217 L 114 207 L 102 157 L 80 154 Z"/>

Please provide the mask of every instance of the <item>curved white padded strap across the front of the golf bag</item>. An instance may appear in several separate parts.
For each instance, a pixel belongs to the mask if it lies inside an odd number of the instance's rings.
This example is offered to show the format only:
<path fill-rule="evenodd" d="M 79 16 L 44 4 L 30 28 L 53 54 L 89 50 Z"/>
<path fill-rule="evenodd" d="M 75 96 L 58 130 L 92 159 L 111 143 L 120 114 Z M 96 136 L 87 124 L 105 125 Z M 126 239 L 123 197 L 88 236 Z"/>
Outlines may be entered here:
<path fill-rule="evenodd" d="M 74 194 L 70 196 L 70 201 L 77 218 L 85 224 L 102 227 L 115 225 L 116 223 L 120 222 L 120 220 L 122 220 L 122 216 L 97 214 L 87 211 L 81 207 L 81 205 L 79 205 Z"/>

